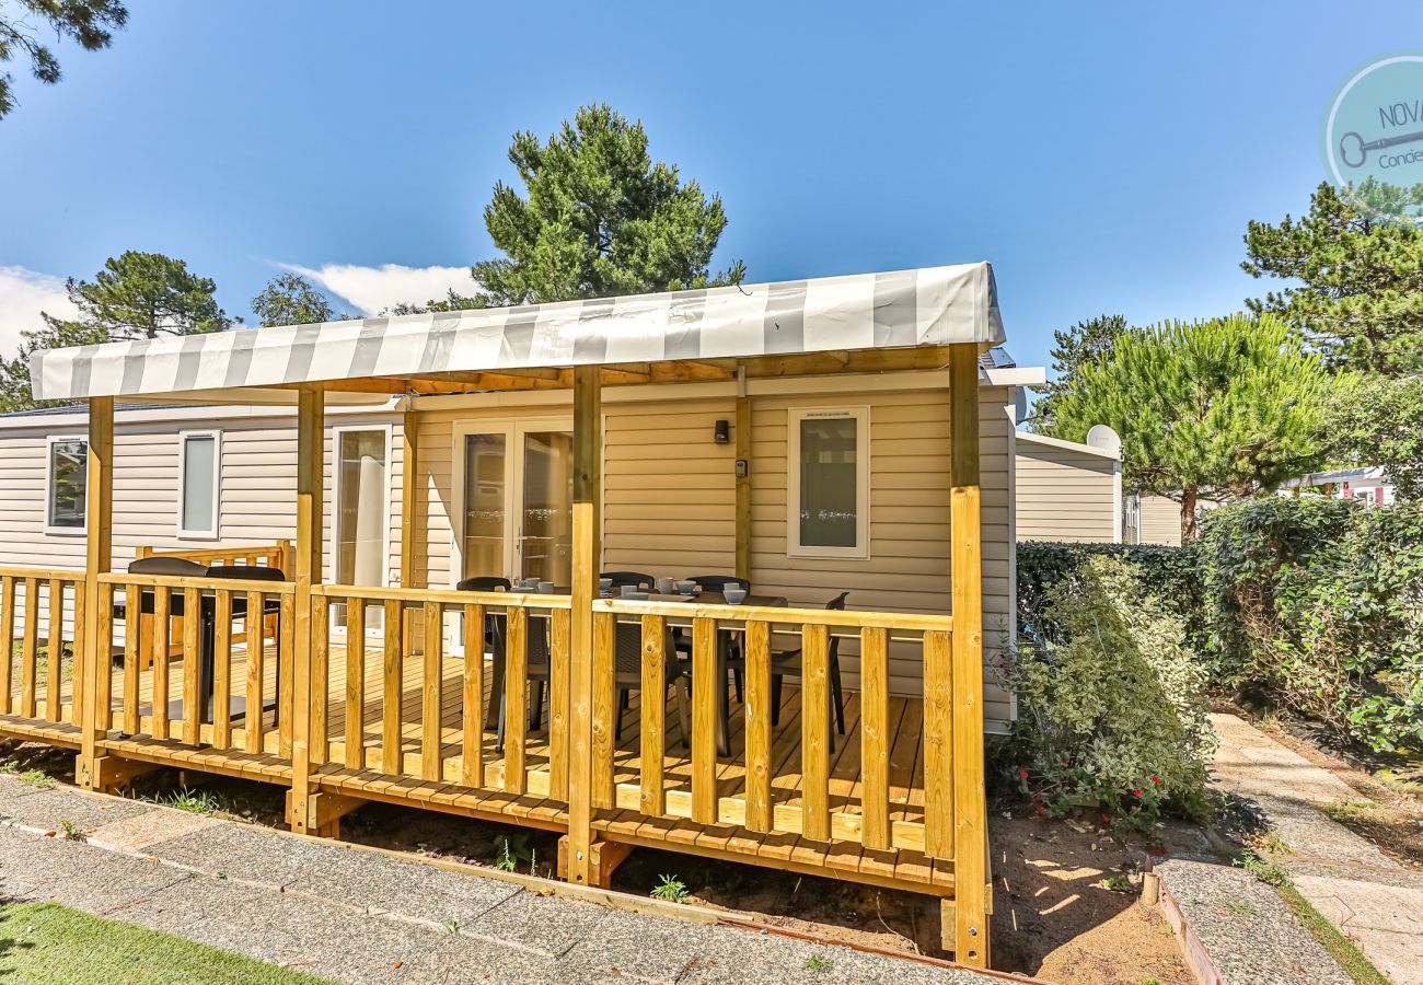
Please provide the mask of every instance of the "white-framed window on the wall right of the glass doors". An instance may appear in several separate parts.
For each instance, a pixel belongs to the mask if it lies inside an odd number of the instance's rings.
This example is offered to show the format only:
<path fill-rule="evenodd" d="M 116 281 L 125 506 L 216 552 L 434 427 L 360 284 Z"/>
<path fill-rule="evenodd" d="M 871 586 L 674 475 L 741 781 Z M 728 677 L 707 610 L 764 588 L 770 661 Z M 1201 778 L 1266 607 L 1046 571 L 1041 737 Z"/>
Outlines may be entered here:
<path fill-rule="evenodd" d="M 787 554 L 869 557 L 869 409 L 800 409 L 788 420 Z"/>

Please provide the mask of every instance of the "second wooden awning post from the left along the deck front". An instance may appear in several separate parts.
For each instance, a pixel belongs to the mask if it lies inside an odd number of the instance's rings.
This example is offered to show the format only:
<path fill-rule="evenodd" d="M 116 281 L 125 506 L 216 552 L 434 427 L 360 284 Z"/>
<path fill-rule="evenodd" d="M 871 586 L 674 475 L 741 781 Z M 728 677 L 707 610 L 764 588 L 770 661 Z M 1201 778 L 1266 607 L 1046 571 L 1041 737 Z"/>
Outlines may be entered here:
<path fill-rule="evenodd" d="M 316 803 L 312 797 L 312 665 L 316 628 L 312 625 L 312 585 L 322 579 L 322 491 L 326 473 L 326 394 L 320 386 L 305 384 L 296 396 L 296 548 L 295 625 L 292 629 L 292 830 L 314 833 Z M 322 689 L 316 689 L 322 690 Z"/>

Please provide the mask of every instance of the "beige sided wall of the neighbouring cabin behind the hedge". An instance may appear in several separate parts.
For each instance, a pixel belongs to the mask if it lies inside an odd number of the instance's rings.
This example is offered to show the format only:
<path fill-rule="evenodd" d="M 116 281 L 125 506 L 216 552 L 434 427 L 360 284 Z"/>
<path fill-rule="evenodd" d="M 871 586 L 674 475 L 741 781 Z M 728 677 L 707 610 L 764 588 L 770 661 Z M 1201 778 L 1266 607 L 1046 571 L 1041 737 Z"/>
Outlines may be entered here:
<path fill-rule="evenodd" d="M 1114 460 L 1022 434 L 1016 446 L 1017 539 L 1117 539 Z"/>

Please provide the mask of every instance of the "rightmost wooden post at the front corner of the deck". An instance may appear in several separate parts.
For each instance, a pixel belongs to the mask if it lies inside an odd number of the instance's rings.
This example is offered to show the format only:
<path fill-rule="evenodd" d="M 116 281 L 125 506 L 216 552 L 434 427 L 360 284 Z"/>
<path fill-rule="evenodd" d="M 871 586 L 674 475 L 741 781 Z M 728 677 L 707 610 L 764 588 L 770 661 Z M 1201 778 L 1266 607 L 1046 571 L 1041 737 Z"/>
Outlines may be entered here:
<path fill-rule="evenodd" d="M 951 346 L 951 568 L 953 576 L 955 958 L 986 968 L 988 816 L 983 793 L 983 559 L 979 515 L 978 346 Z M 926 764 L 928 771 L 928 764 Z"/>

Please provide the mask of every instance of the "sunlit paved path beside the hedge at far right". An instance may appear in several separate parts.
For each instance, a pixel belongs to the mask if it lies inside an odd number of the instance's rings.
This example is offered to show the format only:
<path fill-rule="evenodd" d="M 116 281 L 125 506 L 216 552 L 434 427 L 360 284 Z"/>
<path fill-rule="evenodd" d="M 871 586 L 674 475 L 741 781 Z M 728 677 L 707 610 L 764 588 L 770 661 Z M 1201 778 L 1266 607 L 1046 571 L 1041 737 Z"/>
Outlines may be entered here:
<path fill-rule="evenodd" d="M 1259 804 L 1289 846 L 1274 861 L 1301 895 L 1396 985 L 1423 985 L 1423 875 L 1319 810 L 1365 797 L 1238 716 L 1211 722 L 1221 736 L 1217 786 Z"/>

